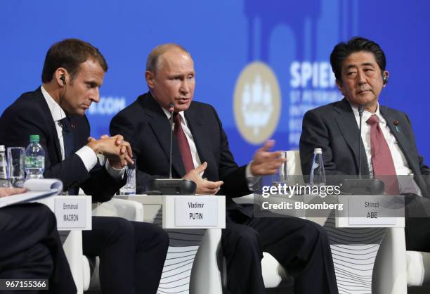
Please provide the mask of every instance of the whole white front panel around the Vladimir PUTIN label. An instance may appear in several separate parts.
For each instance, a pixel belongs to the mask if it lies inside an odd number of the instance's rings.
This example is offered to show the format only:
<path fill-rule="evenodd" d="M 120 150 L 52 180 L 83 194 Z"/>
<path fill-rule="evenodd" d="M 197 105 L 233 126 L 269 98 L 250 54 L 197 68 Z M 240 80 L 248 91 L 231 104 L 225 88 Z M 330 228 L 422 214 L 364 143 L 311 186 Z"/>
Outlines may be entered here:
<path fill-rule="evenodd" d="M 163 196 L 164 229 L 225 227 L 225 196 Z"/>

